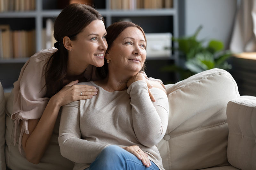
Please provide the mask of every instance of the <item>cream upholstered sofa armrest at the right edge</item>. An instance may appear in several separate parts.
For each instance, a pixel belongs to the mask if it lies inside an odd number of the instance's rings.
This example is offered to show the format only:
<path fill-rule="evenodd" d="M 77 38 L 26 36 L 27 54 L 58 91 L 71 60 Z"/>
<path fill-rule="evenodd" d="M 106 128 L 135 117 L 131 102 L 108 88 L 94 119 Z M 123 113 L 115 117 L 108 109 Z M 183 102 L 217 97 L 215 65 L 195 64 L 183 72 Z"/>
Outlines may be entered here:
<path fill-rule="evenodd" d="M 256 169 L 256 97 L 228 102 L 228 162 L 236 168 Z"/>

